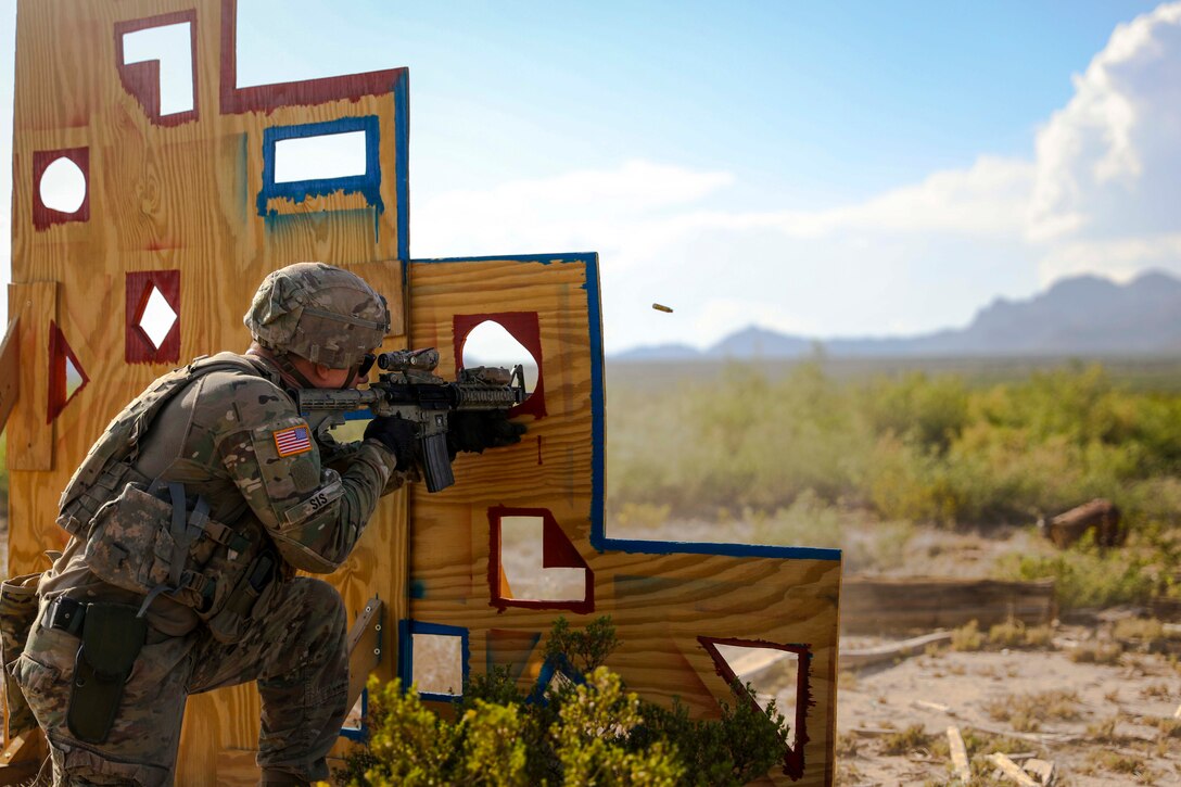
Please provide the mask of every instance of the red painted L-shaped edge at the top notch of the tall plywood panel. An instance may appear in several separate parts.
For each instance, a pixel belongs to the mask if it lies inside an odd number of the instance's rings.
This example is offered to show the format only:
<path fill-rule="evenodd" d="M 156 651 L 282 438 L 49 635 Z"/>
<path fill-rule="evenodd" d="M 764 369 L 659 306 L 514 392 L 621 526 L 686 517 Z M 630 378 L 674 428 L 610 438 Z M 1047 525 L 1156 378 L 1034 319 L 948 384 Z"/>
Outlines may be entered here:
<path fill-rule="evenodd" d="M 272 85 L 237 86 L 237 0 L 222 0 L 221 19 L 221 112 L 267 112 L 281 106 L 309 106 L 365 96 L 385 96 L 393 92 L 397 80 L 406 69 L 367 71 L 342 77 L 282 82 Z"/>

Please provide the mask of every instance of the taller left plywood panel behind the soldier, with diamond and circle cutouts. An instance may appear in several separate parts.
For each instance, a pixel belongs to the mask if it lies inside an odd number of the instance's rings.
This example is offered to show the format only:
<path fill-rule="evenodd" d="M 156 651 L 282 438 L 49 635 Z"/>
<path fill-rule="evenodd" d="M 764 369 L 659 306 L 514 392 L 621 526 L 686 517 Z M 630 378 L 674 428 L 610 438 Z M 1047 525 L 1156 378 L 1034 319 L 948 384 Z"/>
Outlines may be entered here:
<path fill-rule="evenodd" d="M 120 65 L 120 47 L 126 32 L 175 24 L 191 31 L 195 108 L 161 117 L 159 66 Z M 60 489 L 129 399 L 196 356 L 248 346 L 242 314 L 268 272 L 301 260 L 354 266 L 390 301 L 389 347 L 405 344 L 406 71 L 237 89 L 236 38 L 234 0 L 18 5 L 8 299 L 22 363 L 7 425 L 9 574 L 46 567 L 43 552 L 61 546 Z M 270 136 L 309 124 L 365 130 L 366 177 L 266 186 Z M 39 171 L 63 156 L 87 181 L 72 214 L 47 209 L 38 191 Z M 129 330 L 144 281 L 180 314 L 165 352 Z M 89 378 L 64 406 L 52 401 L 54 331 Z M 332 577 L 348 610 L 377 594 L 405 614 L 405 581 L 391 568 L 405 564 L 405 503 L 386 499 Z M 216 783 L 210 763 L 222 749 L 254 748 L 257 718 L 253 687 L 194 697 L 180 783 Z"/>

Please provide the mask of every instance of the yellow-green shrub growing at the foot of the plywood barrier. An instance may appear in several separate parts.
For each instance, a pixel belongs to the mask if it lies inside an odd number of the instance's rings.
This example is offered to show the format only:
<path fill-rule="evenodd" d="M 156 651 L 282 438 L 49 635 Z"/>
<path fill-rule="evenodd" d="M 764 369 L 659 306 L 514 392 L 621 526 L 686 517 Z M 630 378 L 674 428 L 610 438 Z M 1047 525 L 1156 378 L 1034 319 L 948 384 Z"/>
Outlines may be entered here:
<path fill-rule="evenodd" d="M 341 785 L 743 785 L 782 760 L 788 726 L 735 684 L 719 720 L 692 720 L 627 691 L 602 662 L 618 644 L 600 618 L 574 630 L 559 618 L 547 659 L 573 677 L 526 696 L 507 669 L 464 687 L 455 718 L 436 715 L 398 681 L 370 679 L 368 740 L 334 775 Z"/>

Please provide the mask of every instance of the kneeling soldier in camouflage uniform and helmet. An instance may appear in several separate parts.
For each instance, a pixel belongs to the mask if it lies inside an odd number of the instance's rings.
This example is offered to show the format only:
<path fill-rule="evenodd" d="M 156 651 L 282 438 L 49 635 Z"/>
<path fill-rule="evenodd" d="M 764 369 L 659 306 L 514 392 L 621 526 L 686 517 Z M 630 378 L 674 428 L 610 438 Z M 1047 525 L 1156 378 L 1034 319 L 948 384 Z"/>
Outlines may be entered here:
<path fill-rule="evenodd" d="M 366 381 L 390 320 L 357 275 L 276 271 L 244 323 L 246 355 L 157 379 L 63 493 L 72 538 L 12 666 L 50 742 L 43 782 L 52 767 L 54 785 L 171 783 L 187 696 L 249 681 L 260 783 L 328 776 L 347 711 L 345 613 L 332 586 L 293 573 L 337 568 L 378 496 L 418 479 L 413 434 L 376 418 L 329 456 L 287 392 Z"/>

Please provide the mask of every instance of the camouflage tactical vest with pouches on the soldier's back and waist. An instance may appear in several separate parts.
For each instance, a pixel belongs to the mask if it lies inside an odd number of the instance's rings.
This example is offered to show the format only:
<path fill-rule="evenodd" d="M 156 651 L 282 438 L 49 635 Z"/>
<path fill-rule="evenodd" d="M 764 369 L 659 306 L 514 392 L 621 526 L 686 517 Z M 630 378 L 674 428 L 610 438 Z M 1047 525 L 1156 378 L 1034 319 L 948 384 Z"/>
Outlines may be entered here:
<path fill-rule="evenodd" d="M 209 503 L 184 487 L 145 476 L 139 441 L 165 404 L 216 371 L 259 376 L 233 353 L 197 358 L 157 379 L 107 425 L 61 493 L 57 522 L 84 541 L 90 571 L 144 596 L 139 614 L 161 593 L 193 607 L 221 642 L 239 638 L 279 558 L 256 518 L 209 519 Z"/>

